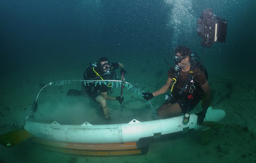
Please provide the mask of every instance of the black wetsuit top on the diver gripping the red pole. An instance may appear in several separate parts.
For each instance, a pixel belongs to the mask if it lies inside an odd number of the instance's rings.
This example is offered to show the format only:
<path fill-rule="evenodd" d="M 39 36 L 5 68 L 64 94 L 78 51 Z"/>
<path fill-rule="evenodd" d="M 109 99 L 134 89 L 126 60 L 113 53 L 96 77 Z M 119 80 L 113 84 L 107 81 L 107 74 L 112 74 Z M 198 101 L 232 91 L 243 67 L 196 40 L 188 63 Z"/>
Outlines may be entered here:
<path fill-rule="evenodd" d="M 102 79 L 104 80 L 114 80 L 115 79 L 115 69 L 119 68 L 119 64 L 118 63 L 110 63 L 111 67 L 111 74 L 105 74 L 105 72 L 103 72 L 100 68 L 98 67 L 94 67 L 94 70 L 101 76 Z M 104 75 L 103 75 L 104 74 Z M 84 72 L 84 80 L 102 80 L 94 71 L 93 71 L 93 67 L 90 66 L 88 67 L 85 72 Z M 96 92 L 98 92 L 97 94 L 99 94 L 99 92 L 108 92 L 109 87 L 105 84 L 97 84 L 95 86 L 94 83 L 89 83 L 86 84 L 87 87 L 87 92 L 89 94 L 95 94 Z"/>

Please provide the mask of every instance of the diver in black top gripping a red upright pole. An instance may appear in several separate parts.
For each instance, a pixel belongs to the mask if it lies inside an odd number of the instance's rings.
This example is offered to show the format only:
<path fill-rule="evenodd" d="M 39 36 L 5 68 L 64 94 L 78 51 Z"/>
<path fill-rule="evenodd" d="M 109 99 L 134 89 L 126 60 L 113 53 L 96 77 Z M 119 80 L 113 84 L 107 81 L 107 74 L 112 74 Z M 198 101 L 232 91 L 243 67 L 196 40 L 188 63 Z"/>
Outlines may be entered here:
<path fill-rule="evenodd" d="M 109 63 L 108 58 L 102 57 L 95 64 L 90 63 L 85 72 L 84 80 L 117 80 L 115 70 L 120 68 L 120 74 L 126 74 L 124 64 Z M 117 100 L 121 104 L 124 97 L 112 97 L 109 95 L 113 93 L 112 82 L 105 84 L 83 83 L 81 94 L 88 94 L 94 101 L 100 104 L 102 112 L 107 121 L 110 120 L 108 105 L 106 100 Z"/>

